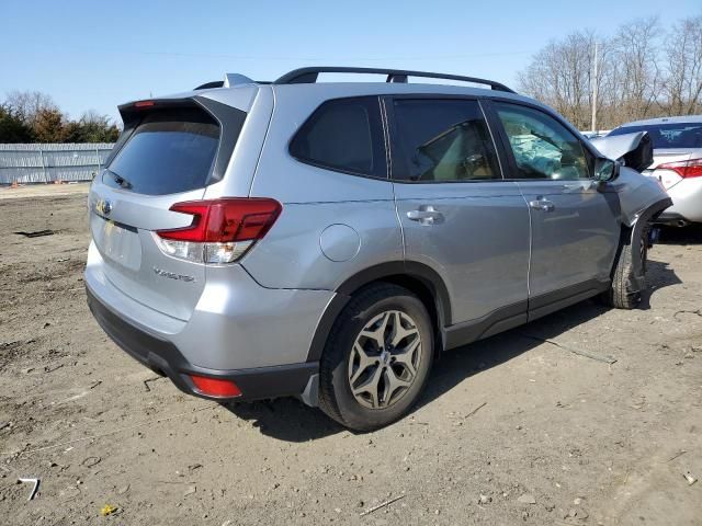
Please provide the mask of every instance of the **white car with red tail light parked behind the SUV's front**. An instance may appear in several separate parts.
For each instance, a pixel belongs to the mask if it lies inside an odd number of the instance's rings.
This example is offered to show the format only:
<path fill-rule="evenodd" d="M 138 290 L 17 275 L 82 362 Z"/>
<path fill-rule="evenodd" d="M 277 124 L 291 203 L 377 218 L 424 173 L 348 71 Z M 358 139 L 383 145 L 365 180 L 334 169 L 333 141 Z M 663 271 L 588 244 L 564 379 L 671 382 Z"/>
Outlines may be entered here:
<path fill-rule="evenodd" d="M 658 221 L 680 227 L 702 222 L 702 115 L 636 121 L 608 137 L 636 132 L 648 133 L 654 145 L 654 162 L 643 173 L 658 179 L 672 198 Z"/>

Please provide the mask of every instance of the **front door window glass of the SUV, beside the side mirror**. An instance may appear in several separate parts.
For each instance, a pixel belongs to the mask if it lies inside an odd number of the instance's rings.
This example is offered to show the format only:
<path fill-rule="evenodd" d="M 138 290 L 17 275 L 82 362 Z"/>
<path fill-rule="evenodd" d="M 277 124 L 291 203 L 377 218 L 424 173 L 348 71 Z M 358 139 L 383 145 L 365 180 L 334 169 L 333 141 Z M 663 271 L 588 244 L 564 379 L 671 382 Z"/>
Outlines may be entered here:
<path fill-rule="evenodd" d="M 514 104 L 495 104 L 514 155 L 520 179 L 589 179 L 592 156 L 553 117 Z"/>

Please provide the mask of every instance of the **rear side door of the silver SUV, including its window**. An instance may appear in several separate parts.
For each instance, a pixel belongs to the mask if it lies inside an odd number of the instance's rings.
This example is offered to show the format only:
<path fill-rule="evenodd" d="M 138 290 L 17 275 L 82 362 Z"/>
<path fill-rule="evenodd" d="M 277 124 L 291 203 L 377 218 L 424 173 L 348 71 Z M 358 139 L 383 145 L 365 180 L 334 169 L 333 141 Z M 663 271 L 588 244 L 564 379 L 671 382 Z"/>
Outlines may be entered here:
<path fill-rule="evenodd" d="M 405 259 L 442 277 L 446 323 L 465 325 L 469 341 L 525 321 L 529 210 L 518 185 L 502 180 L 478 101 L 395 96 L 384 104 Z"/>

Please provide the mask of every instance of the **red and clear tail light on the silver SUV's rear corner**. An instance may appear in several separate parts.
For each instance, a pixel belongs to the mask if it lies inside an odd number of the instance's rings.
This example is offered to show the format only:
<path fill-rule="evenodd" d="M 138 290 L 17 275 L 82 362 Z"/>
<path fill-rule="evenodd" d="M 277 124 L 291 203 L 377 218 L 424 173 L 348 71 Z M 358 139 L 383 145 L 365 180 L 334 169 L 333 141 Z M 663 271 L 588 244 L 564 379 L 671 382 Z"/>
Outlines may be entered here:
<path fill-rule="evenodd" d="M 282 206 L 275 199 L 231 197 L 177 203 L 170 209 L 193 220 L 185 228 L 155 232 L 166 254 L 199 263 L 231 263 L 265 236 Z"/>

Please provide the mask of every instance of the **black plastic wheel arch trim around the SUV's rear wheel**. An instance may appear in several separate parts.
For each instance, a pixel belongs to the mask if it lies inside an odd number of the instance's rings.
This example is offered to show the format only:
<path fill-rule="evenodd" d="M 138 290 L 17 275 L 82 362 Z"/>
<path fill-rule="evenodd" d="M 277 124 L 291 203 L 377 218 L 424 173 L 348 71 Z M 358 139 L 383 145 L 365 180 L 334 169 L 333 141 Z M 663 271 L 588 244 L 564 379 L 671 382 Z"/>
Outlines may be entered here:
<path fill-rule="evenodd" d="M 412 261 L 394 261 L 373 265 L 347 278 L 335 290 L 336 295 L 321 315 L 312 339 L 307 362 L 321 357 L 331 325 L 349 300 L 362 288 L 376 282 L 387 282 L 416 294 L 424 304 L 437 335 L 437 348 L 443 348 L 441 329 L 451 322 L 451 299 L 445 283 L 430 266 Z M 440 353 L 437 353 L 437 356 Z"/>

